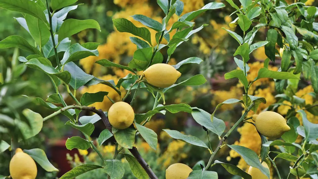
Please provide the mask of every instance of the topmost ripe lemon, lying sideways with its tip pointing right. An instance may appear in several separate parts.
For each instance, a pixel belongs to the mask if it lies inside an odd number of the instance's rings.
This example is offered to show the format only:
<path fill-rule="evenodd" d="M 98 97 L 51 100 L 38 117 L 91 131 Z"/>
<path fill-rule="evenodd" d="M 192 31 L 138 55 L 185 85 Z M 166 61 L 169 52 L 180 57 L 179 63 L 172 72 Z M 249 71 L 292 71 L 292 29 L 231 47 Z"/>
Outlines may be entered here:
<path fill-rule="evenodd" d="M 171 65 L 157 63 L 147 68 L 143 75 L 150 84 L 159 88 L 167 88 L 177 81 L 181 73 Z"/>

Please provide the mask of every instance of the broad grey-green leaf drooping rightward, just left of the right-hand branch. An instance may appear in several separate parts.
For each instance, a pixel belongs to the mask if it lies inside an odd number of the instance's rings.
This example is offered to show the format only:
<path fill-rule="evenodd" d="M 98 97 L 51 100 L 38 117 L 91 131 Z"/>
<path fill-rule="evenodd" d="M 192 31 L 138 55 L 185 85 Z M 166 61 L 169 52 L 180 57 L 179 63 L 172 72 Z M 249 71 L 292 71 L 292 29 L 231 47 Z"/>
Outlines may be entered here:
<path fill-rule="evenodd" d="M 218 119 L 216 117 L 213 117 L 213 120 L 211 120 L 211 114 L 199 109 L 199 108 L 192 108 L 192 117 L 194 118 L 197 123 L 200 125 L 206 127 L 211 132 L 217 134 L 218 136 L 221 136 L 222 133 L 225 130 L 225 123 L 223 120 Z"/>

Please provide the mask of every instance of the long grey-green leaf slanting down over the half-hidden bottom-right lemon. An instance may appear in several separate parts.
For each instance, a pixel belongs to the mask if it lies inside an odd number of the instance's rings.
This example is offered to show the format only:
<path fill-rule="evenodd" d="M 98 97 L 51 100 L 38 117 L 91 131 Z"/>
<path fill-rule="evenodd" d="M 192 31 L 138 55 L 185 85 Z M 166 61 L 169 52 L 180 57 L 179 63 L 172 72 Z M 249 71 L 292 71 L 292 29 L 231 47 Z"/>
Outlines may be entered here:
<path fill-rule="evenodd" d="M 267 178 L 270 177 L 269 169 L 265 168 L 259 161 L 257 154 L 249 148 L 238 146 L 238 145 L 227 145 L 235 152 L 239 153 L 241 157 L 245 160 L 247 165 L 258 168 Z"/>

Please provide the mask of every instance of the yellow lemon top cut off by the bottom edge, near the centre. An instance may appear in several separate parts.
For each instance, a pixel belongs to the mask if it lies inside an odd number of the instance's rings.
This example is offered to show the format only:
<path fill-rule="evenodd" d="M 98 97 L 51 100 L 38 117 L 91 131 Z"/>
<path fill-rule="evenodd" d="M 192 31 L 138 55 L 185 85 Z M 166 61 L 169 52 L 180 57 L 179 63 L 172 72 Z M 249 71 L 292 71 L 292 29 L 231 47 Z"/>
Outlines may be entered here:
<path fill-rule="evenodd" d="M 183 163 L 175 163 L 166 169 L 166 179 L 186 179 L 192 169 Z"/>

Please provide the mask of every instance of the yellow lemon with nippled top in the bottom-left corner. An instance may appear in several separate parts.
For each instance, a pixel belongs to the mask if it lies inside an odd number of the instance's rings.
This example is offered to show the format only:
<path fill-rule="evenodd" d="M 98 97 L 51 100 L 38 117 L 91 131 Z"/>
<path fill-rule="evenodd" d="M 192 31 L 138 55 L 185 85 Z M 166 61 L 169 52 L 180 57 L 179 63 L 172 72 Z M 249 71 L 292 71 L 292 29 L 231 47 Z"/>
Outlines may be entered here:
<path fill-rule="evenodd" d="M 12 179 L 35 179 L 37 176 L 37 165 L 30 155 L 17 148 L 16 154 L 10 161 L 10 175 Z"/>

